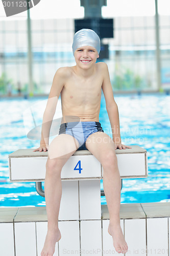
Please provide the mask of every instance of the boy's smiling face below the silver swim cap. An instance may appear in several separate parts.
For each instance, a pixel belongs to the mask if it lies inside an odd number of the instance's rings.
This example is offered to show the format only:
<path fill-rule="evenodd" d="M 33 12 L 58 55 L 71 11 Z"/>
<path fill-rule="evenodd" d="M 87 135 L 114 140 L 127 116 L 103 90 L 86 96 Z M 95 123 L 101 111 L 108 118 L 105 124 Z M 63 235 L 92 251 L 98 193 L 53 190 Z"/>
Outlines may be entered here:
<path fill-rule="evenodd" d="M 79 67 L 88 69 L 95 64 L 96 59 L 99 58 L 97 50 L 92 46 L 82 46 L 76 49 L 75 60 Z"/>

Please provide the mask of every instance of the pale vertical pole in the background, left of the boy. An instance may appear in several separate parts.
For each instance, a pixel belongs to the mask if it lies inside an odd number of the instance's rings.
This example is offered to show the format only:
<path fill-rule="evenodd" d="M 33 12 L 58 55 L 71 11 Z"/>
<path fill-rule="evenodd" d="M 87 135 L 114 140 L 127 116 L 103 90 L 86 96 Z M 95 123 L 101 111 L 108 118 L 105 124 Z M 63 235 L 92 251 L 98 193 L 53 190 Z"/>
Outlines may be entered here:
<path fill-rule="evenodd" d="M 29 6 L 29 5 L 28 5 Z M 31 20 L 30 9 L 27 8 L 27 34 L 28 34 L 28 68 L 29 68 L 29 96 L 33 96 L 33 72 L 32 72 L 32 45 L 31 45 Z"/>

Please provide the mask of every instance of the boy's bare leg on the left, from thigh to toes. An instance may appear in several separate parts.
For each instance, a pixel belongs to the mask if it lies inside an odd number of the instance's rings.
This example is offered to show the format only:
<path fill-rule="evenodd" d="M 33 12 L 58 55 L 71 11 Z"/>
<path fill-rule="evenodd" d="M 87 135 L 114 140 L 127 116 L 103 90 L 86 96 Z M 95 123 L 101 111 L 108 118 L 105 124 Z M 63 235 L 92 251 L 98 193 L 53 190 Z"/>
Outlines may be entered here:
<path fill-rule="evenodd" d="M 61 233 L 58 228 L 58 216 L 62 194 L 61 170 L 78 147 L 79 143 L 74 137 L 61 134 L 51 142 L 48 148 L 44 183 L 48 229 L 41 256 L 52 256 L 55 251 L 56 242 L 61 238 Z"/>

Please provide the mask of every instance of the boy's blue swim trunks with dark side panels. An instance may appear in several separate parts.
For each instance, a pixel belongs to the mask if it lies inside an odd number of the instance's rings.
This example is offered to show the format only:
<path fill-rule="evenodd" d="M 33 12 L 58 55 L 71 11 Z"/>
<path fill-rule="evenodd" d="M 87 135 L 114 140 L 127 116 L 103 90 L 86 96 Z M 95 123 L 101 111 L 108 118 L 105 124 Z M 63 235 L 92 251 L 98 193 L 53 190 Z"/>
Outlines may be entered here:
<path fill-rule="evenodd" d="M 79 142 L 78 150 L 87 150 L 85 143 L 88 138 L 93 133 L 103 132 L 100 122 L 67 122 L 60 125 L 60 134 L 68 134 L 76 138 Z"/>

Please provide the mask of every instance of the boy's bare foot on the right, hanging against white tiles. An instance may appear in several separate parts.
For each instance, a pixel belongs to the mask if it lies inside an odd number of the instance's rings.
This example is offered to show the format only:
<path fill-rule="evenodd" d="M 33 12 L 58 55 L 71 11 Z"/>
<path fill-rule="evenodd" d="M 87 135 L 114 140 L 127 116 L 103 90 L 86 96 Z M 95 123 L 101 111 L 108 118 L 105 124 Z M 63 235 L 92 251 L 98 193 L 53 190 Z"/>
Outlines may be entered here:
<path fill-rule="evenodd" d="M 128 250 L 128 245 L 125 241 L 122 228 L 119 224 L 109 224 L 108 232 L 113 238 L 113 245 L 117 252 L 126 253 Z"/>

